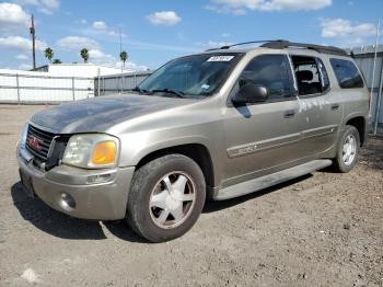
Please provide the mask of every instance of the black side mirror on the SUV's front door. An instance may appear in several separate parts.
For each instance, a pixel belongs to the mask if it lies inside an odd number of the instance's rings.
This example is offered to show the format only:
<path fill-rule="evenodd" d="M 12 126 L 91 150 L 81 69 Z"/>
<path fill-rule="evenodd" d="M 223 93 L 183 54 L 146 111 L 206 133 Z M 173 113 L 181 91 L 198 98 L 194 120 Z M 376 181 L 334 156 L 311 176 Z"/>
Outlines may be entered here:
<path fill-rule="evenodd" d="M 232 99 L 234 105 L 263 103 L 268 97 L 267 88 L 260 84 L 245 83 Z"/>

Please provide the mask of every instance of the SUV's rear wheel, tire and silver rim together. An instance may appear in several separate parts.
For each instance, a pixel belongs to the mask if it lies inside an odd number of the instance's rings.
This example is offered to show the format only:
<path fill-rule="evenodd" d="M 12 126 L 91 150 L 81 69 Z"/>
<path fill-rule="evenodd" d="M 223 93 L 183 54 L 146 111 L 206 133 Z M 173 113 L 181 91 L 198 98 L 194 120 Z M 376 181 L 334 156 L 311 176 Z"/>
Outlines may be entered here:
<path fill-rule="evenodd" d="M 359 148 L 360 136 L 358 129 L 355 126 L 346 126 L 338 142 L 336 158 L 334 159 L 335 171 L 346 173 L 352 170 L 358 161 Z"/>

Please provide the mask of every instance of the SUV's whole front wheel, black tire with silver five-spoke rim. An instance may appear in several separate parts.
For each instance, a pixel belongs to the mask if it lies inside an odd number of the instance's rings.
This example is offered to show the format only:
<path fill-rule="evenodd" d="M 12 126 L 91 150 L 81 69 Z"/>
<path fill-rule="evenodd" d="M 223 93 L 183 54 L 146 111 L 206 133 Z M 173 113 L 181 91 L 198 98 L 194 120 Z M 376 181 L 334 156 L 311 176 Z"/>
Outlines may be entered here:
<path fill-rule="evenodd" d="M 199 165 L 182 154 L 164 156 L 135 172 L 126 219 L 149 241 L 169 241 L 195 225 L 205 198 L 206 183 Z"/>

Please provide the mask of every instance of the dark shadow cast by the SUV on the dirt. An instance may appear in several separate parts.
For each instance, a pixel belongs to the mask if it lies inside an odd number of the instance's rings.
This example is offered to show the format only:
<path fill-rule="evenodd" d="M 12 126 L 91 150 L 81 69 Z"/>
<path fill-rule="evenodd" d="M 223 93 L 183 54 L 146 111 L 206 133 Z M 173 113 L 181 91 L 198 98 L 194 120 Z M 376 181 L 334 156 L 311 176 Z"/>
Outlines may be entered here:
<path fill-rule="evenodd" d="M 304 181 L 312 175 L 304 175 L 286 183 L 278 184 L 274 187 L 269 187 L 257 193 L 248 194 L 233 199 L 212 202 L 208 200 L 204 208 L 204 214 L 214 213 L 225 208 L 240 205 L 244 202 L 255 199 L 265 194 L 280 190 L 282 187 L 295 184 L 300 181 Z M 55 209 L 47 206 L 39 198 L 31 198 L 27 196 L 21 182 L 13 184 L 11 187 L 11 195 L 13 205 L 18 208 L 21 216 L 30 221 L 33 226 L 39 230 L 58 237 L 61 239 L 70 240 L 103 240 L 107 237 L 103 230 L 104 226 L 115 237 L 130 242 L 148 243 L 144 239 L 137 236 L 130 228 L 125 223 L 124 220 L 115 221 L 92 221 L 70 217 L 68 215 L 56 211 Z"/>

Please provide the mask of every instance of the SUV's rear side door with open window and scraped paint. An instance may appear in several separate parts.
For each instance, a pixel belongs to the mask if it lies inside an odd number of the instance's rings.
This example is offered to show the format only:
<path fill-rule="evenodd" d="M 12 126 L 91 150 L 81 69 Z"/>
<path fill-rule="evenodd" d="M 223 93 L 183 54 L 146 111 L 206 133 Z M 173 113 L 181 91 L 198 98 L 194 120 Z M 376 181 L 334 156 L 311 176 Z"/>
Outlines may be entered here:
<path fill-rule="evenodd" d="M 322 59 L 291 56 L 291 60 L 299 90 L 301 156 L 316 158 L 336 144 L 343 117 L 343 99 L 332 92 L 327 69 Z"/>

